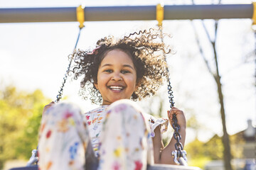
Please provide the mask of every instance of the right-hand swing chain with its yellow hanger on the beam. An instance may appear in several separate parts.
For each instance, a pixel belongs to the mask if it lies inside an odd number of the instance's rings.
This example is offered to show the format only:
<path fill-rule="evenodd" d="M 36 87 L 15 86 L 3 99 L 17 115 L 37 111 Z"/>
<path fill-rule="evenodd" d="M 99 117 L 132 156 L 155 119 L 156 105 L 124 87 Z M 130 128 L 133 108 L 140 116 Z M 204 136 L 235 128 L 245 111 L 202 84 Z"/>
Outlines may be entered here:
<path fill-rule="evenodd" d="M 156 20 L 159 21 L 159 30 L 160 30 L 160 36 L 161 36 L 161 42 L 164 43 L 163 40 L 163 27 L 162 27 L 162 21 L 164 20 L 164 5 L 158 4 L 156 6 Z M 164 60 L 167 64 L 166 60 L 166 54 L 163 52 L 164 55 Z M 167 80 L 167 87 L 168 87 L 168 94 L 169 94 L 169 103 L 170 103 L 170 108 L 174 107 L 174 91 L 172 91 L 172 86 L 171 86 L 171 79 L 170 79 L 170 74 L 169 74 L 169 68 L 168 66 L 166 67 L 166 72 L 168 75 L 168 80 Z M 176 140 L 176 144 L 174 145 L 175 151 L 173 151 L 171 154 L 174 157 L 174 162 L 176 164 L 181 164 L 184 166 L 187 166 L 187 158 L 186 158 L 186 151 L 183 150 L 183 146 L 181 144 L 181 134 L 178 132 L 180 130 L 180 126 L 178 125 L 178 120 L 176 118 L 176 115 L 173 115 L 172 118 L 173 122 L 172 127 L 174 128 L 174 139 Z"/>

